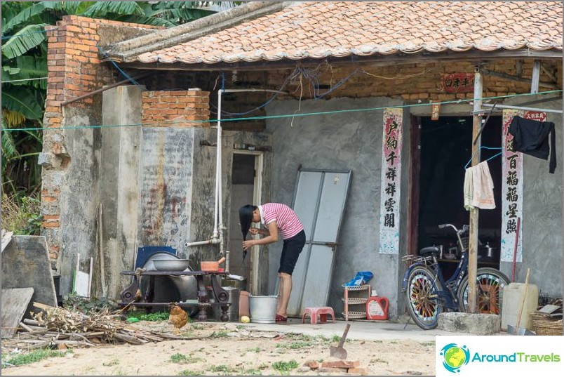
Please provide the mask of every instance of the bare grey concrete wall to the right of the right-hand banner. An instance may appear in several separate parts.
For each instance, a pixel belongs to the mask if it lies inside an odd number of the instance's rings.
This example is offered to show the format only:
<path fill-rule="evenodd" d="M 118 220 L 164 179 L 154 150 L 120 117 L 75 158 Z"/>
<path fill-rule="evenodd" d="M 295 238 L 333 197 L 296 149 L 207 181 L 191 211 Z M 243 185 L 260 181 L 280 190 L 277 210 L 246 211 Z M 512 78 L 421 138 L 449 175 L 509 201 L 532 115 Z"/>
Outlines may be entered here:
<path fill-rule="evenodd" d="M 504 105 L 518 105 L 539 98 L 513 98 L 506 100 Z M 562 110 L 562 100 L 535 103 L 528 107 Z M 546 115 L 547 121 L 552 121 L 556 130 L 556 171 L 549 173 L 549 161 L 523 154 L 523 262 L 516 264 L 515 279 L 516 282 L 525 282 L 529 267 L 530 282 L 537 284 L 539 294 L 560 298 L 563 266 L 563 127 L 562 114 Z M 509 278 L 512 265 L 502 263 L 500 266 Z"/>

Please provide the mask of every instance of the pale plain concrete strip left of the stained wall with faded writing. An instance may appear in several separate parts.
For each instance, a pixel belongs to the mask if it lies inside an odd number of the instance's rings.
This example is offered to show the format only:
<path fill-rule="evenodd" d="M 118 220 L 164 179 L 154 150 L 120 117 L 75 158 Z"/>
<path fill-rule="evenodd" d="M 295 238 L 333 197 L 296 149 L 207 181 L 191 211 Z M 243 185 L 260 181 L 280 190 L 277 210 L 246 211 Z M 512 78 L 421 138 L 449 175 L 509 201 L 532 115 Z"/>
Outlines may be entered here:
<path fill-rule="evenodd" d="M 141 123 L 142 86 L 118 86 L 104 92 L 103 124 Z M 121 275 L 133 269 L 138 218 L 138 175 L 141 127 L 102 129 L 102 164 L 100 166 L 100 203 L 102 204 L 103 256 L 107 296 L 117 297 L 130 277 Z M 98 228 L 97 228 L 98 230 Z M 97 250 L 94 282 L 102 296 L 100 253 Z M 105 290 L 104 290 L 105 291 Z"/>

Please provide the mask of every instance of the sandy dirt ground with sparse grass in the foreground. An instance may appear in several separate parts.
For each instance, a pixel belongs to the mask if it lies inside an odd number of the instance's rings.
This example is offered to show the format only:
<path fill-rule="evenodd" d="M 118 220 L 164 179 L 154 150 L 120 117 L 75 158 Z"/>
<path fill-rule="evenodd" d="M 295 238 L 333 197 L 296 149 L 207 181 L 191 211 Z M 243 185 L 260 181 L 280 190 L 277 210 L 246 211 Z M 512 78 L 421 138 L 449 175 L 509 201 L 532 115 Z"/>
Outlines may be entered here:
<path fill-rule="evenodd" d="M 163 322 L 138 322 L 140 329 L 173 333 Z M 342 375 L 342 372 L 311 370 L 308 361 L 336 361 L 329 347 L 333 338 L 300 333 L 256 331 L 241 324 L 189 323 L 182 329 L 187 340 L 167 340 L 145 345 L 99 345 L 75 348 L 63 357 L 33 364 L 8 366 L 5 376 L 234 376 L 234 375 Z M 415 340 L 348 340 L 347 360 L 358 360 L 368 375 L 434 375 L 434 342 Z M 2 343 L 2 359 L 17 355 L 9 342 Z M 295 360 L 293 369 L 284 363 Z M 278 366 L 278 368 L 277 368 Z"/>

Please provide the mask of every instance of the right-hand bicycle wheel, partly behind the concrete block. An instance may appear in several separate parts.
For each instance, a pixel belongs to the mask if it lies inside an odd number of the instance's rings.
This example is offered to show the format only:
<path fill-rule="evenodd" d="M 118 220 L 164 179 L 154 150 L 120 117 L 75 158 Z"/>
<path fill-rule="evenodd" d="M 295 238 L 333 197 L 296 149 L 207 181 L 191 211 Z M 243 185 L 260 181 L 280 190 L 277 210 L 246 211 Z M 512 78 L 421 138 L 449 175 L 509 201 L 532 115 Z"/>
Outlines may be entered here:
<path fill-rule="evenodd" d="M 509 278 L 503 272 L 491 267 L 476 271 L 476 290 L 478 291 L 478 313 L 502 315 L 503 287 Z M 458 305 L 461 312 L 468 308 L 468 275 L 462 279 L 458 288 Z"/>

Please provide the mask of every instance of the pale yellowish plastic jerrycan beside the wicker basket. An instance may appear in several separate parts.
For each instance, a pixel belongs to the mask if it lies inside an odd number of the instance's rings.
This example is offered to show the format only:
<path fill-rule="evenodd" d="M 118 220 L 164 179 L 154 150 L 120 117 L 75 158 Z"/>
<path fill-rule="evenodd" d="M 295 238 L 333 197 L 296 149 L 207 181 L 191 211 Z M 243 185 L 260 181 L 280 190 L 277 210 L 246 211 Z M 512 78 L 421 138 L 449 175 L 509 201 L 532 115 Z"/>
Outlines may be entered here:
<path fill-rule="evenodd" d="M 527 296 L 523 304 L 523 312 L 521 313 L 521 323 L 519 327 L 523 329 L 533 330 L 530 314 L 537 310 L 539 305 L 539 288 L 535 284 L 528 284 Z M 525 283 L 509 283 L 503 289 L 502 304 L 502 330 L 507 330 L 507 325 L 517 326 L 517 317 L 521 302 L 525 295 Z"/>

